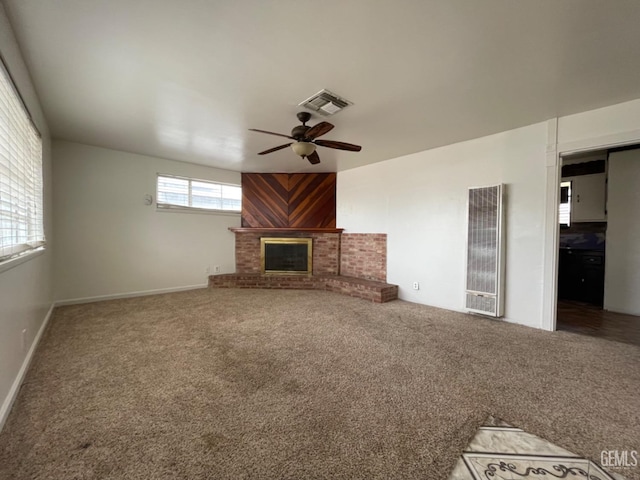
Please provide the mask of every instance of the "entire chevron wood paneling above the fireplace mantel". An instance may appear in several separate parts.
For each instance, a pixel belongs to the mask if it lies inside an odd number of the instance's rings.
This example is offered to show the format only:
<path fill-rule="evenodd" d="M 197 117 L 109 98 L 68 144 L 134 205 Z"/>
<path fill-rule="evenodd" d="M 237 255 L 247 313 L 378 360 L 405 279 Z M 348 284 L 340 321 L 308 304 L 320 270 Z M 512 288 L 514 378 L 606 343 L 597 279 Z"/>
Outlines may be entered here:
<path fill-rule="evenodd" d="M 242 226 L 336 228 L 336 174 L 243 173 Z"/>

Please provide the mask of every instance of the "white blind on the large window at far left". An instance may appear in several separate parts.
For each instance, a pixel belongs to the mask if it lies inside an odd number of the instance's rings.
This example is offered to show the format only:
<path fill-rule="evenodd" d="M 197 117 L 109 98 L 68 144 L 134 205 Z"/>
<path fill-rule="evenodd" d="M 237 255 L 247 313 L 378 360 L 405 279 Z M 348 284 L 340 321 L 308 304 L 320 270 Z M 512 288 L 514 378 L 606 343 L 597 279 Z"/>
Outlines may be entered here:
<path fill-rule="evenodd" d="M 44 245 L 42 139 L 0 62 L 0 262 Z"/>

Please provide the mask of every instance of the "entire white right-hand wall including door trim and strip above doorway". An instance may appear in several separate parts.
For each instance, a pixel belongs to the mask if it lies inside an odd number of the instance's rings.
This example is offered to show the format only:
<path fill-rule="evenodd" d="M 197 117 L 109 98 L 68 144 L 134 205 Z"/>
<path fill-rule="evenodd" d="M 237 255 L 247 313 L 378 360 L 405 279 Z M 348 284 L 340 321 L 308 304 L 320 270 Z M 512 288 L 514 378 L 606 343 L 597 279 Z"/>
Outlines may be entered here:
<path fill-rule="evenodd" d="M 466 189 L 505 183 L 505 318 L 553 330 L 560 155 L 638 142 L 633 100 L 339 172 L 338 226 L 389 235 L 400 298 L 463 310 Z"/>

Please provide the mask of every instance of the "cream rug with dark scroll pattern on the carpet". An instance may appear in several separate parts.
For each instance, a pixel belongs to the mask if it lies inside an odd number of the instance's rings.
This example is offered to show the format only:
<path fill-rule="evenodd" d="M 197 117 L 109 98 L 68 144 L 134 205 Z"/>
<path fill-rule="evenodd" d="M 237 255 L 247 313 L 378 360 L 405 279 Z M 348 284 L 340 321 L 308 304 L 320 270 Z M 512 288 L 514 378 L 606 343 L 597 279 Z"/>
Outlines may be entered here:
<path fill-rule="evenodd" d="M 458 459 L 449 480 L 625 480 L 594 462 L 489 417 Z"/>

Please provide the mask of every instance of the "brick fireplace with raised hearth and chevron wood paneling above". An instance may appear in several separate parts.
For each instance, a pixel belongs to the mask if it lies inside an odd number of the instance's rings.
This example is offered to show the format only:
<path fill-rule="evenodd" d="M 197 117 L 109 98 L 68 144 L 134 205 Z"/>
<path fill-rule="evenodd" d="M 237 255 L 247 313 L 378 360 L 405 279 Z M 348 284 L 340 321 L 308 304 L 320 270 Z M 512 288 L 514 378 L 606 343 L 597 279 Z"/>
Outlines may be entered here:
<path fill-rule="evenodd" d="M 214 288 L 318 289 L 387 302 L 398 286 L 386 283 L 386 234 L 343 233 L 336 226 L 336 174 L 242 174 L 242 227 L 236 273 L 212 275 Z M 261 239 L 311 239 L 310 274 L 263 273 Z"/>

